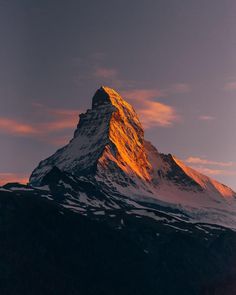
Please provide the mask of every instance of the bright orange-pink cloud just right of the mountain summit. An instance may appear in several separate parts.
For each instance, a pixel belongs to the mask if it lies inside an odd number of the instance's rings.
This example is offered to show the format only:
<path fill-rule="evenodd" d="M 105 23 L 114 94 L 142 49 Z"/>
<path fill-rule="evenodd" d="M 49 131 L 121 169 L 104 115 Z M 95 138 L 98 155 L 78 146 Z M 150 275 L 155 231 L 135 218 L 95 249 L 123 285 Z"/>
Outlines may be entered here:
<path fill-rule="evenodd" d="M 122 91 L 124 98 L 128 98 L 135 106 L 143 127 L 169 127 L 179 119 L 176 110 L 167 104 L 151 100 L 159 97 L 158 89 L 133 89 Z"/>

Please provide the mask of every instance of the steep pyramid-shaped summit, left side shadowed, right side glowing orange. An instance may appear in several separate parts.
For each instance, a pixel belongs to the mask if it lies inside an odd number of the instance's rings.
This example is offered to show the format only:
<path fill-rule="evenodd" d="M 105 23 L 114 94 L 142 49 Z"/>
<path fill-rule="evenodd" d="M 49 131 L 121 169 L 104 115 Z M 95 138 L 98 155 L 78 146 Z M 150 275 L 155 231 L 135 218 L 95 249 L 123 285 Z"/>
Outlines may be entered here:
<path fill-rule="evenodd" d="M 137 179 L 150 181 L 152 168 L 144 148 L 144 131 L 133 107 L 114 90 L 98 89 L 92 109 L 80 115 L 73 139 L 42 161 L 30 182 L 40 185 L 54 166 L 121 185 L 134 184 Z"/>

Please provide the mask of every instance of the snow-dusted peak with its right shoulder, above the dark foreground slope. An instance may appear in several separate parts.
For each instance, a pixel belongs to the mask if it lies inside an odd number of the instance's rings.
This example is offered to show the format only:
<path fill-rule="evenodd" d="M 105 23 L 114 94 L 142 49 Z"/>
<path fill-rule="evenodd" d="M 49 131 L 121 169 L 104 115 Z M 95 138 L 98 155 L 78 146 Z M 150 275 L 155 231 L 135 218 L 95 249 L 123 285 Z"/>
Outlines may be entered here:
<path fill-rule="evenodd" d="M 96 91 L 92 108 L 80 115 L 73 139 L 40 162 L 30 185 L 41 187 L 49 184 L 48 179 L 57 179 L 57 185 L 60 181 L 60 189 L 73 182 L 63 202 L 77 204 L 77 209 L 84 202 L 99 203 L 88 198 L 85 188 L 94 186 L 107 208 L 117 206 L 117 199 L 133 202 L 134 209 L 140 202 L 149 210 L 161 204 L 195 221 L 236 228 L 236 193 L 173 155 L 159 153 L 144 139 L 133 107 L 108 87 Z"/>

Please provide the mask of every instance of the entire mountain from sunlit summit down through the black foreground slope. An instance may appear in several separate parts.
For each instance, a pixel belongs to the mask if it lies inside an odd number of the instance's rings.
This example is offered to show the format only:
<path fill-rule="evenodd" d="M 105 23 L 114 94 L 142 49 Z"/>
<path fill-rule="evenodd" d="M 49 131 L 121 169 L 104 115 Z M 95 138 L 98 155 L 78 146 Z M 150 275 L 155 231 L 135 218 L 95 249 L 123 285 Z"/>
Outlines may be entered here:
<path fill-rule="evenodd" d="M 236 193 L 160 153 L 108 87 L 0 188 L 0 294 L 236 294 Z"/>

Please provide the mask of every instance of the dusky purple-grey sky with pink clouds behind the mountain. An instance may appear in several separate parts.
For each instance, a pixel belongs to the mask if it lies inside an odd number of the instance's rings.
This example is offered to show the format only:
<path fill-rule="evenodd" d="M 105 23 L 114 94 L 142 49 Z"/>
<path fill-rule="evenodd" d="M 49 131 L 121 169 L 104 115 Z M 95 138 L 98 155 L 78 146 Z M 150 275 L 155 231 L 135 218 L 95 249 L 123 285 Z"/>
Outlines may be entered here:
<path fill-rule="evenodd" d="M 160 152 L 236 190 L 235 0 L 0 0 L 0 184 L 114 88 Z"/>

